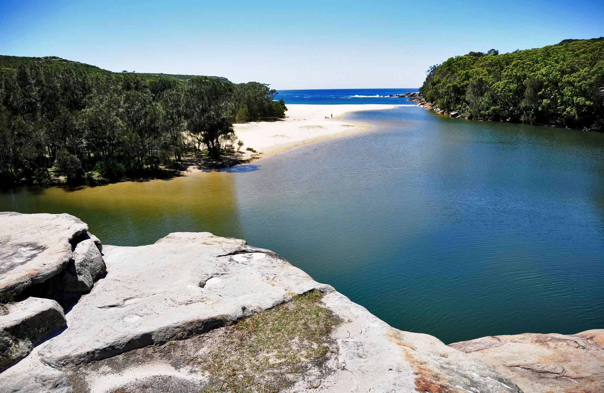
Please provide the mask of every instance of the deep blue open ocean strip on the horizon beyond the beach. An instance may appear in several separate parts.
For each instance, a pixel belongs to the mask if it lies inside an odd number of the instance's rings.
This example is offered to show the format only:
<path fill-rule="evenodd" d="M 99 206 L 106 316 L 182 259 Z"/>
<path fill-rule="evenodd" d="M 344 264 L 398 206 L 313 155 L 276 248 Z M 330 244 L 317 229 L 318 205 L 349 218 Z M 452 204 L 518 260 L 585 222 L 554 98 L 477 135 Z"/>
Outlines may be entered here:
<path fill-rule="evenodd" d="M 394 94 L 413 93 L 417 88 L 406 89 L 315 89 L 279 90 L 275 100 L 286 104 L 411 104 L 407 97 L 389 97 Z"/>

